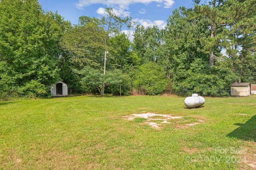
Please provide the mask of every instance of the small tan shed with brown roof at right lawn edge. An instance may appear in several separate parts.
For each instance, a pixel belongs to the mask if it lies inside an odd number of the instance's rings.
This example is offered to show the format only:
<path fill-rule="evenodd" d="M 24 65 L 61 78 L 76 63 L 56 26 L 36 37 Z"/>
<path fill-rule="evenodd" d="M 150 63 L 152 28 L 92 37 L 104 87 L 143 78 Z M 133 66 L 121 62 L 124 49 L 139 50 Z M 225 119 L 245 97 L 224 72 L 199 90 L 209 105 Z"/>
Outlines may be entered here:
<path fill-rule="evenodd" d="M 250 83 L 232 83 L 231 96 L 250 96 Z"/>

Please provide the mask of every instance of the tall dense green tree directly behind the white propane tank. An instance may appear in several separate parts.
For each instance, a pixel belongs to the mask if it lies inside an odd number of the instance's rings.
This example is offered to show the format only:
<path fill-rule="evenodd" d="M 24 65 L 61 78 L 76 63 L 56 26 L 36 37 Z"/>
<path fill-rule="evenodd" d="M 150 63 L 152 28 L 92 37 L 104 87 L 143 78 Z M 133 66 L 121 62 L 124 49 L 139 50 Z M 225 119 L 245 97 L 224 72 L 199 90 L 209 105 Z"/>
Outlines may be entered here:
<path fill-rule="evenodd" d="M 238 76 L 221 64 L 207 66 L 209 58 L 202 39 L 210 35 L 208 21 L 187 18 L 184 14 L 188 13 L 182 8 L 175 10 L 164 34 L 172 86 L 177 94 L 222 94 L 222 90 L 229 90 L 230 83 L 238 80 Z M 219 53 L 216 49 L 215 55 Z M 216 57 L 220 58 L 218 55 Z"/>

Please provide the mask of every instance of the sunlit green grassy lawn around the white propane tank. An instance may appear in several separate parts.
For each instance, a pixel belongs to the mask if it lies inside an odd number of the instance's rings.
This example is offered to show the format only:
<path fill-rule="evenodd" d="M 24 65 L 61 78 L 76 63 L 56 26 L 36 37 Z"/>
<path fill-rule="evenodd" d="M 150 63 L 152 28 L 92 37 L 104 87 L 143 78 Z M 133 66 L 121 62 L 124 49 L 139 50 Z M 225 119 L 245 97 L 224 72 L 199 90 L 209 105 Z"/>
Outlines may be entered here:
<path fill-rule="evenodd" d="M 0 169 L 254 169 L 256 96 L 78 96 L 0 102 Z M 132 114 L 155 113 L 124 119 Z M 162 115 L 181 116 L 162 123 Z"/>

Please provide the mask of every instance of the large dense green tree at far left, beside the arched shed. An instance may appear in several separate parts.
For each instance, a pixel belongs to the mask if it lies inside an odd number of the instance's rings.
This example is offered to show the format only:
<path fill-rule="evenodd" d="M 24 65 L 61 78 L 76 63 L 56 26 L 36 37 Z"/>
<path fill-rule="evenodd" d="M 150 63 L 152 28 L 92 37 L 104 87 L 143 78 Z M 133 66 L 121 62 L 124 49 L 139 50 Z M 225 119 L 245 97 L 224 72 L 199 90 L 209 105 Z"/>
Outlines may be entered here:
<path fill-rule="evenodd" d="M 12 91 L 49 86 L 59 78 L 62 30 L 37 0 L 0 1 L 0 84 Z M 28 86 L 40 83 L 42 86 Z M 33 92 L 33 89 L 30 89 Z M 38 95 L 45 93 L 38 93 Z"/>

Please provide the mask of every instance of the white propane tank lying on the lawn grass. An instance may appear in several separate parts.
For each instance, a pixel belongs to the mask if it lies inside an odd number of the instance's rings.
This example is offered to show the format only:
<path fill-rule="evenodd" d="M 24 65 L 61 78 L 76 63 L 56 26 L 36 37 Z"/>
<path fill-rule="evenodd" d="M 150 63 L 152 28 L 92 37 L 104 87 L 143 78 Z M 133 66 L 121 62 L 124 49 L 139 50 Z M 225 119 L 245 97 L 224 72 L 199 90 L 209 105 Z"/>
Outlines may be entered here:
<path fill-rule="evenodd" d="M 204 102 L 205 102 L 204 98 L 202 96 L 198 96 L 198 94 L 192 94 L 192 96 L 189 96 L 184 100 L 184 104 L 188 108 L 202 106 Z"/>

